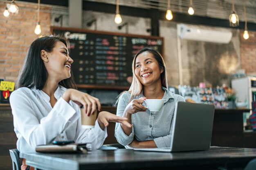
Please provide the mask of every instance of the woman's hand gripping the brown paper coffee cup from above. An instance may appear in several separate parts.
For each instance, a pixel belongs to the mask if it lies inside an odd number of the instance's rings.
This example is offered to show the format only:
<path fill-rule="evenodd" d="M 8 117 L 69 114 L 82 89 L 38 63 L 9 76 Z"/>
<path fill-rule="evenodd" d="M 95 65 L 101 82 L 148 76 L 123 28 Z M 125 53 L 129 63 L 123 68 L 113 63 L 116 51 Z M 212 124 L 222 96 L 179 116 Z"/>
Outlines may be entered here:
<path fill-rule="evenodd" d="M 90 96 L 87 93 L 80 92 L 76 89 L 67 89 L 67 91 L 62 95 L 62 98 L 67 102 L 72 100 L 78 105 L 83 105 L 85 113 L 88 116 L 97 110 L 96 106 L 98 106 L 98 110 L 101 111 L 101 103 L 98 98 Z"/>

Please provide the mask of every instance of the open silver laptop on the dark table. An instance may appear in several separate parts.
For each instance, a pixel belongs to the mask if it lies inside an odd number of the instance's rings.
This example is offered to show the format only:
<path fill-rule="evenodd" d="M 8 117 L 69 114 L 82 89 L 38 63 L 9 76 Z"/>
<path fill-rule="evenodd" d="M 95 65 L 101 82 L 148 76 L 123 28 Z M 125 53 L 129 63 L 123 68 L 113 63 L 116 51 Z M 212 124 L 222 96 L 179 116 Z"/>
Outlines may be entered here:
<path fill-rule="evenodd" d="M 180 152 L 209 150 L 214 105 L 176 103 L 170 148 L 135 148 L 139 151 Z"/>

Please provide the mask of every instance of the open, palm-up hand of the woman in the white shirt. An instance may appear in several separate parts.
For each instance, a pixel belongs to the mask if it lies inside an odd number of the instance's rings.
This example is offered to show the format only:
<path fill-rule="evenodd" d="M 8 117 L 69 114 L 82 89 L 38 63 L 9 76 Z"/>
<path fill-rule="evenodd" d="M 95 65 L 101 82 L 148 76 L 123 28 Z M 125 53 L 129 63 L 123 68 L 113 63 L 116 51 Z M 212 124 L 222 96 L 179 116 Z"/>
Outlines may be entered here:
<path fill-rule="evenodd" d="M 104 128 L 109 125 L 109 122 L 122 123 L 123 125 L 126 125 L 128 128 L 132 128 L 132 125 L 127 122 L 127 118 L 119 117 L 115 114 L 106 111 L 100 112 L 97 120 L 102 130 L 104 130 Z"/>

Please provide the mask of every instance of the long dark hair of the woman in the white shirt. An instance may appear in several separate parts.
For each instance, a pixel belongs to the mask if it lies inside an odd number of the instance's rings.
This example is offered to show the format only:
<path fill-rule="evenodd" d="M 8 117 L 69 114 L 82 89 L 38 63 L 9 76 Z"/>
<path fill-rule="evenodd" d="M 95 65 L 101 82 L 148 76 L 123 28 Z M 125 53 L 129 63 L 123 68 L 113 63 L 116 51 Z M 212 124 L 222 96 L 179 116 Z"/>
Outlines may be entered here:
<path fill-rule="evenodd" d="M 23 63 L 22 68 L 20 69 L 20 74 L 18 76 L 18 81 L 16 82 L 16 89 L 20 87 L 28 87 L 36 89 L 43 89 L 47 80 L 47 71 L 43 60 L 41 59 L 40 53 L 42 50 L 47 52 L 52 52 L 53 48 L 56 45 L 56 42 L 63 42 L 67 49 L 70 50 L 69 41 L 63 36 L 54 35 L 54 36 L 44 36 L 37 38 L 30 45 L 27 56 Z M 76 89 L 76 84 L 73 77 L 73 72 L 71 70 L 71 77 L 65 80 L 62 80 L 58 83 L 65 88 Z"/>

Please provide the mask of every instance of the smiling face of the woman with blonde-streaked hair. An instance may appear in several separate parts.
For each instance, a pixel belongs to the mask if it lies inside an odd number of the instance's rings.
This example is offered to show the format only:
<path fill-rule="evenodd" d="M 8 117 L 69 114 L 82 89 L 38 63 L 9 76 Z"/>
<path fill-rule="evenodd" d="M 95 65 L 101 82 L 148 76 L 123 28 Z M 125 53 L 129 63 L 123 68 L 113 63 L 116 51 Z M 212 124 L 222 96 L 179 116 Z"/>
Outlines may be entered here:
<path fill-rule="evenodd" d="M 145 51 L 139 54 L 135 60 L 135 75 L 144 86 L 161 84 L 160 75 L 163 69 L 159 68 L 157 60 L 152 53 Z"/>

